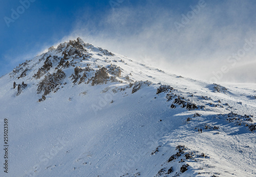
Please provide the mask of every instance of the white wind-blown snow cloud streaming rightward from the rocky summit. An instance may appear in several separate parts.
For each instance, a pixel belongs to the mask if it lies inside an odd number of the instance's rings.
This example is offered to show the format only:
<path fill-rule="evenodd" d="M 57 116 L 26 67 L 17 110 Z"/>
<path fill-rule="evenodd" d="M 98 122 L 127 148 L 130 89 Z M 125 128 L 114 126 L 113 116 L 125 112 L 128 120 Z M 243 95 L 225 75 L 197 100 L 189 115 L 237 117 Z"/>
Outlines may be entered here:
<path fill-rule="evenodd" d="M 100 20 L 87 11 L 63 40 L 80 36 L 95 46 L 186 77 L 255 82 L 255 70 L 248 70 L 256 52 L 252 4 L 200 0 L 182 6 L 165 1 L 163 6 L 146 1 L 135 7 L 126 1 L 114 10 L 110 6 Z M 251 43 L 242 51 L 247 41 Z"/>

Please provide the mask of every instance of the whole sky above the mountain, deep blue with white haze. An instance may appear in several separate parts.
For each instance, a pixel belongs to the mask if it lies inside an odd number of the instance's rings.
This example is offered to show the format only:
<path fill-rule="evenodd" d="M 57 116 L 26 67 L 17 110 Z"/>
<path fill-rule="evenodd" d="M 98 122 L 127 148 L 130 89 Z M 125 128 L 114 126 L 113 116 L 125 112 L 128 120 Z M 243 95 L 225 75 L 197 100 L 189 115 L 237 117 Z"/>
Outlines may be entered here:
<path fill-rule="evenodd" d="M 225 65 L 229 72 L 219 80 L 241 82 L 248 77 L 247 82 L 256 81 L 252 77 L 256 46 L 239 60 L 227 59 L 241 52 L 245 40 L 256 41 L 256 2 L 252 0 L 33 1 L 22 0 L 30 5 L 2 2 L 0 75 L 59 42 L 80 36 L 95 46 L 176 74 L 209 80 L 218 77 Z M 6 23 L 12 19 L 12 9 L 19 10 L 19 17 Z"/>

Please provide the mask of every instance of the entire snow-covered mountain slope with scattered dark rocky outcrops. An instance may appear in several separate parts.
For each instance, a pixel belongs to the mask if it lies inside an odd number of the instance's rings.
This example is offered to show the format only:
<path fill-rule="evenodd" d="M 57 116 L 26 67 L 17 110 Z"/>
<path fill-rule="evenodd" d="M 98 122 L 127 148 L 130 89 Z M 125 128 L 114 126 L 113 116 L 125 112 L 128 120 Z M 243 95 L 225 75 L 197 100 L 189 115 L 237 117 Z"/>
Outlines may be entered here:
<path fill-rule="evenodd" d="M 60 43 L 0 79 L 0 176 L 256 176 L 255 90 Z"/>

